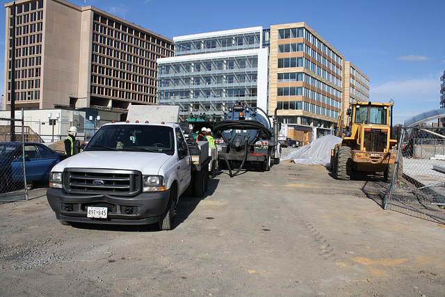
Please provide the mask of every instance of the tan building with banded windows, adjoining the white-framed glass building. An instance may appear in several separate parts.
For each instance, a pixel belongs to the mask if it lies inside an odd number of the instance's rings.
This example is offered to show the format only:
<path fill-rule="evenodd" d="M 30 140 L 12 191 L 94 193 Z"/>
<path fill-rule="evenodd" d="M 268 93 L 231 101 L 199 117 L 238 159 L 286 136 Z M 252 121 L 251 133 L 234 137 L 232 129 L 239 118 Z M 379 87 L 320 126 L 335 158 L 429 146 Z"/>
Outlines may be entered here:
<path fill-rule="evenodd" d="M 304 22 L 270 26 L 269 113 L 280 136 L 304 143 L 331 134 L 343 106 L 344 57 Z"/>

